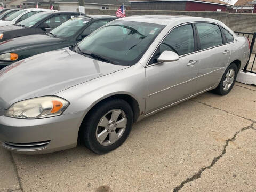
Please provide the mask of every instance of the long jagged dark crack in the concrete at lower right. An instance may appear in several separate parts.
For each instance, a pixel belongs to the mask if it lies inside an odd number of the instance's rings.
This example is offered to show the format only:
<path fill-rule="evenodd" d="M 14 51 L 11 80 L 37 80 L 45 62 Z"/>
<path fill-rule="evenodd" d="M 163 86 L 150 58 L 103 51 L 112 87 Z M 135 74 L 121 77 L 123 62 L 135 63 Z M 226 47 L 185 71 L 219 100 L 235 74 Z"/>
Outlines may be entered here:
<path fill-rule="evenodd" d="M 203 173 L 203 171 L 205 171 L 206 169 L 211 169 L 211 167 L 212 167 L 213 165 L 215 165 L 215 163 L 216 163 L 223 155 L 226 154 L 226 148 L 227 148 L 227 146 L 228 146 L 228 143 L 229 143 L 230 141 L 234 141 L 238 133 L 240 133 L 240 132 L 242 132 L 242 131 L 244 131 L 244 130 L 247 130 L 247 129 L 254 129 L 253 124 L 254 124 L 254 122 L 253 122 L 250 126 L 243 127 L 241 130 L 237 131 L 231 139 L 226 140 L 226 143 L 225 143 L 225 145 L 223 146 L 222 153 L 221 153 L 218 157 L 214 157 L 214 158 L 213 158 L 211 165 L 206 166 L 206 167 L 202 167 L 202 168 L 201 168 L 196 174 L 194 174 L 192 177 L 187 178 L 185 181 L 182 181 L 179 186 L 174 187 L 173 192 L 179 191 L 182 187 L 184 187 L 184 185 L 185 185 L 186 183 L 201 178 L 201 174 Z"/>

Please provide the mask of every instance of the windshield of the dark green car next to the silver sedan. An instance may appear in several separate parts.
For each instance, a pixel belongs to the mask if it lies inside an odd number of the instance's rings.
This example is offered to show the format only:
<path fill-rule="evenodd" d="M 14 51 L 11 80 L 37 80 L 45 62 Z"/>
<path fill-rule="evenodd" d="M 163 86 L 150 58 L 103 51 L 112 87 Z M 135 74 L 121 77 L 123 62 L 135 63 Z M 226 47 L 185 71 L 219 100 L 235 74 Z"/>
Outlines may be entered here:
<path fill-rule="evenodd" d="M 77 31 L 85 26 L 86 23 L 89 21 L 90 19 L 72 18 L 67 22 L 61 24 L 59 27 L 53 29 L 51 33 L 59 38 L 67 38 L 77 33 Z"/>

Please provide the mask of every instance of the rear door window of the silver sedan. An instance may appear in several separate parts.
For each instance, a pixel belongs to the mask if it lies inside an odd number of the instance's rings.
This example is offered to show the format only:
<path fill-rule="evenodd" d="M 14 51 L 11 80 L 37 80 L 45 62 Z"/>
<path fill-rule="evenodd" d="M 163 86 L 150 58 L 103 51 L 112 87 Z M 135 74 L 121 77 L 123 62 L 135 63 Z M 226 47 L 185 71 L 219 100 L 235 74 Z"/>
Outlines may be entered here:
<path fill-rule="evenodd" d="M 196 23 L 201 50 L 222 44 L 220 28 L 211 23 Z"/>

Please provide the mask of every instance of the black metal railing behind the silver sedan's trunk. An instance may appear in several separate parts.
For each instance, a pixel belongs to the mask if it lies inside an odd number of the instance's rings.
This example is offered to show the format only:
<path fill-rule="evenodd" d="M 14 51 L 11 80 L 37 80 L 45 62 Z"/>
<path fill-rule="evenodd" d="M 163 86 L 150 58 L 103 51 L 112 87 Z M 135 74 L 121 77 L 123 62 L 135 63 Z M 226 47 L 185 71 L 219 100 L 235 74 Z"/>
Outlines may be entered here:
<path fill-rule="evenodd" d="M 250 49 L 250 54 L 249 54 L 249 60 L 247 61 L 246 65 L 244 66 L 243 71 L 244 72 L 251 72 L 251 73 L 256 73 L 256 68 L 254 69 L 254 63 L 256 60 L 256 46 L 254 49 L 254 43 L 255 43 L 255 39 L 256 39 L 256 32 L 254 33 L 246 33 L 246 32 L 238 32 L 235 31 L 236 34 L 238 35 L 243 35 L 245 37 L 247 37 L 251 43 L 251 49 Z"/>

